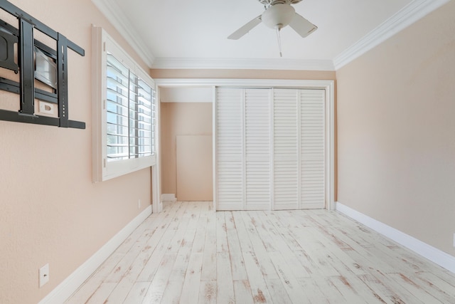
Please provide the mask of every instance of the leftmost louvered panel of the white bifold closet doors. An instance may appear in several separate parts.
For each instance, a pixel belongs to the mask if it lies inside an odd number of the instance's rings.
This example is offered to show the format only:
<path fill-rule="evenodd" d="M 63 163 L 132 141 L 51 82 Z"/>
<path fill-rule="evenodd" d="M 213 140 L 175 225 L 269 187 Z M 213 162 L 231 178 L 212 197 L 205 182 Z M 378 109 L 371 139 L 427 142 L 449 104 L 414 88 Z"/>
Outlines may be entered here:
<path fill-rule="evenodd" d="M 217 88 L 215 101 L 215 201 L 218 210 L 243 210 L 242 90 Z"/>

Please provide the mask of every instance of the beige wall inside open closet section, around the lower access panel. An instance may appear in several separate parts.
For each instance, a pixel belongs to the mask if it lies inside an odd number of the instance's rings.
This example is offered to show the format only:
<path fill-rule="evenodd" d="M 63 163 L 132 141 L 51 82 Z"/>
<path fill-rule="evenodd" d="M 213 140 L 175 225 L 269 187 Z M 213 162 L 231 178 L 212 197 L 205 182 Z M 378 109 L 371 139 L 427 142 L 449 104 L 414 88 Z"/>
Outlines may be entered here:
<path fill-rule="evenodd" d="M 177 135 L 212 135 L 212 103 L 161 103 L 161 192 L 165 194 L 177 194 Z M 211 152 L 205 156 L 210 167 Z"/>

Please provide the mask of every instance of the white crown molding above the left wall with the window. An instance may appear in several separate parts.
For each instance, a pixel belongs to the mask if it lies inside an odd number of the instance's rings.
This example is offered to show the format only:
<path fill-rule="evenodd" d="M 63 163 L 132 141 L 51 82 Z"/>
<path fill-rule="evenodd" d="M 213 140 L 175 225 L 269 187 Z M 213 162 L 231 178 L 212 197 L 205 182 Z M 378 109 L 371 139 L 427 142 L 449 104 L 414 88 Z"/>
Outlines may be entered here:
<path fill-rule="evenodd" d="M 115 1 L 109 0 L 92 0 L 92 2 L 150 68 L 154 63 L 155 58 L 139 38 L 137 31 L 134 31 L 134 27 L 131 22 L 129 22 L 122 9 L 120 9 L 119 5 Z"/>

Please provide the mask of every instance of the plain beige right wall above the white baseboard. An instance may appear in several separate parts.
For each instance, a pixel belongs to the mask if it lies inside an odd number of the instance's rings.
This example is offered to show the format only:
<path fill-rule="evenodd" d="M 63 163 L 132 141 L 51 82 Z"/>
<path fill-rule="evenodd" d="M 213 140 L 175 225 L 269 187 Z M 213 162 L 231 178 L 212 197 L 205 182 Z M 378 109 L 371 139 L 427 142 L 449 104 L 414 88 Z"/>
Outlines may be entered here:
<path fill-rule="evenodd" d="M 455 1 L 337 71 L 338 201 L 455 256 Z"/>

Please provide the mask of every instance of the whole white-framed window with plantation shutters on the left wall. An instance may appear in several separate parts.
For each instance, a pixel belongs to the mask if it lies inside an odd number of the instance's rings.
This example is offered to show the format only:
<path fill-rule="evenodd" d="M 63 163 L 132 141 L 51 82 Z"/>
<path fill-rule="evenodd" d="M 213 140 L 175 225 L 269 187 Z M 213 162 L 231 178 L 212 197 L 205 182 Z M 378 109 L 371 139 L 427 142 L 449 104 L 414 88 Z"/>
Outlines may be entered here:
<path fill-rule="evenodd" d="M 154 81 L 102 28 L 93 28 L 95 182 L 155 164 Z M 95 127 L 96 126 L 96 127 Z"/>

